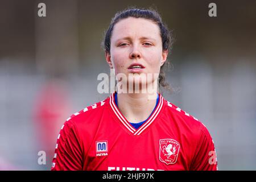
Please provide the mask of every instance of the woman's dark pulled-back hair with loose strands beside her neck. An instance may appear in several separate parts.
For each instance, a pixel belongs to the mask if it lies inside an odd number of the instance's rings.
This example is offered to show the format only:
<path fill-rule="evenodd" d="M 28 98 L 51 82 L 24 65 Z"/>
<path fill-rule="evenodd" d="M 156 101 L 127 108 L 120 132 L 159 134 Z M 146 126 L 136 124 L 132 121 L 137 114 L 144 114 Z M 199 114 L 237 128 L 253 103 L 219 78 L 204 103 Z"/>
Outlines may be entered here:
<path fill-rule="evenodd" d="M 105 52 L 110 53 L 110 38 L 112 36 L 112 32 L 116 23 L 118 23 L 122 19 L 126 19 L 129 17 L 134 18 L 144 18 L 152 20 L 152 22 L 156 23 L 160 30 L 160 35 L 162 38 L 163 50 L 170 51 L 173 39 L 171 37 L 171 32 L 168 30 L 166 24 L 162 22 L 162 18 L 159 13 L 154 9 L 136 9 L 136 8 L 129 8 L 118 12 L 115 14 L 114 18 L 112 18 L 108 31 L 105 34 L 104 40 L 104 48 Z M 168 82 L 166 82 L 165 70 L 168 69 L 170 63 L 166 61 L 162 67 L 160 68 L 159 73 L 159 86 L 169 90 L 172 92 L 172 88 Z"/>

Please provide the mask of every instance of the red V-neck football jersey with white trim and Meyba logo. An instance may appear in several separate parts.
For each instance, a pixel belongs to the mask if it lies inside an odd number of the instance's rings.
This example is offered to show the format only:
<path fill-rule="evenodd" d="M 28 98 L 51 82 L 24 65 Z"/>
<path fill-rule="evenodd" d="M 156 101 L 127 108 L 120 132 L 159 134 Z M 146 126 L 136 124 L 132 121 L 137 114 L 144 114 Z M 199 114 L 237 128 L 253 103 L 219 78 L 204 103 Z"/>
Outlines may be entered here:
<path fill-rule="evenodd" d="M 67 119 L 51 170 L 217 170 L 217 160 L 203 123 L 160 94 L 155 110 L 137 130 L 111 94 Z"/>

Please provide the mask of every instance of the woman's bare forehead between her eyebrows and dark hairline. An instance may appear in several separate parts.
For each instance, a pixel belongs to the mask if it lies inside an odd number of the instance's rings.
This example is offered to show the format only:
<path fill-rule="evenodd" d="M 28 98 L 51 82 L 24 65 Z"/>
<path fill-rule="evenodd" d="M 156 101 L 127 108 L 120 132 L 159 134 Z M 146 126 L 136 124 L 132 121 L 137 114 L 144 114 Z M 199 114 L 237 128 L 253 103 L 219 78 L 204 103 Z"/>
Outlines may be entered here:
<path fill-rule="evenodd" d="M 120 20 L 115 24 L 112 32 L 112 39 L 117 40 L 122 37 L 151 37 L 161 39 L 160 30 L 156 23 L 144 18 L 129 17 Z"/>

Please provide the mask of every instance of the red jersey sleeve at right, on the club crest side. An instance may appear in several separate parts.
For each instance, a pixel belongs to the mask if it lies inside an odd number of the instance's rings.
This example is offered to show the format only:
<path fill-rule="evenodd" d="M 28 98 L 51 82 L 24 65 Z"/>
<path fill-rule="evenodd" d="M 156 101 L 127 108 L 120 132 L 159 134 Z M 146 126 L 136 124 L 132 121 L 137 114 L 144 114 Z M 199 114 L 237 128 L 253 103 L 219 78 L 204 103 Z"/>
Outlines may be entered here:
<path fill-rule="evenodd" d="M 207 128 L 202 124 L 200 138 L 197 142 L 196 152 L 192 159 L 193 171 L 217 171 L 217 157 L 213 139 Z"/>

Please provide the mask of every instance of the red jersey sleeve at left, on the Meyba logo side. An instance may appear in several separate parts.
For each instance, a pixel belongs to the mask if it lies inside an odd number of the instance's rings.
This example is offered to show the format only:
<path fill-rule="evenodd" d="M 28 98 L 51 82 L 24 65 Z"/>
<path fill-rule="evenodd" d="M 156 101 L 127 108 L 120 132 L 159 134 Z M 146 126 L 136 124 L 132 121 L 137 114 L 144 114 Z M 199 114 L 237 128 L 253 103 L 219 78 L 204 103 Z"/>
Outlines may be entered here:
<path fill-rule="evenodd" d="M 82 170 L 82 149 L 75 125 L 71 120 L 61 127 L 57 138 L 51 171 Z"/>

